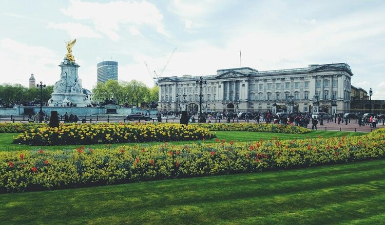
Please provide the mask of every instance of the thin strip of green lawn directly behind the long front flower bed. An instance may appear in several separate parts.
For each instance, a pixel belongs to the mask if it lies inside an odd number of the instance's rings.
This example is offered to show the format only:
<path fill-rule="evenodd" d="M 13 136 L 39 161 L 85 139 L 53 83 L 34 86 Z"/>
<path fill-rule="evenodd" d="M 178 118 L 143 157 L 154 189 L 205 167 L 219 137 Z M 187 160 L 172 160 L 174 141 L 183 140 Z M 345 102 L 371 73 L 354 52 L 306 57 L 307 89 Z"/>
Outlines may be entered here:
<path fill-rule="evenodd" d="M 366 134 L 364 132 L 347 132 L 347 131 L 311 131 L 310 133 L 305 134 L 286 134 L 286 133 L 265 133 L 265 132 L 248 132 L 248 131 L 214 131 L 217 137 L 221 140 L 234 140 L 234 141 L 259 141 L 261 139 L 268 140 L 277 137 L 280 140 L 285 139 L 305 139 L 305 138 L 318 138 L 322 137 L 341 137 L 343 135 L 347 136 L 359 136 Z M 104 148 L 107 147 L 107 144 L 103 145 L 61 145 L 61 146 L 29 146 L 29 145 L 16 145 L 12 144 L 12 137 L 17 136 L 17 133 L 0 133 L 0 151 L 14 151 L 14 150 L 25 150 L 25 149 L 44 149 L 44 150 L 63 150 L 63 149 L 76 149 L 80 146 L 85 146 L 87 148 Z M 174 145 L 188 144 L 191 142 L 197 141 L 183 141 L 183 142 L 169 142 Z M 206 140 L 205 142 L 215 142 L 215 139 Z M 111 144 L 111 147 L 118 147 L 122 145 L 140 145 L 148 146 L 155 145 L 164 142 L 150 142 L 150 143 L 131 143 L 131 144 Z"/>

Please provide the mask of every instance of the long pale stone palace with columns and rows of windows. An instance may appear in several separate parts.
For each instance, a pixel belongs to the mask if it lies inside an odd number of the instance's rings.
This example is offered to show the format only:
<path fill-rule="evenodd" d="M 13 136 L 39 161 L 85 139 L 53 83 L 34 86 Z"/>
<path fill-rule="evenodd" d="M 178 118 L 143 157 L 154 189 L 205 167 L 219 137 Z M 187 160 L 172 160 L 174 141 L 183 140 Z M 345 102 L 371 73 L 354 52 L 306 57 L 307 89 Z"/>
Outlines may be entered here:
<path fill-rule="evenodd" d="M 159 110 L 199 111 L 200 77 L 203 111 L 274 111 L 345 113 L 350 109 L 351 78 L 347 63 L 311 64 L 306 68 L 258 71 L 217 70 L 216 75 L 162 77 Z M 317 108 L 317 109 L 316 109 Z M 316 110 L 315 110 L 316 109 Z"/>

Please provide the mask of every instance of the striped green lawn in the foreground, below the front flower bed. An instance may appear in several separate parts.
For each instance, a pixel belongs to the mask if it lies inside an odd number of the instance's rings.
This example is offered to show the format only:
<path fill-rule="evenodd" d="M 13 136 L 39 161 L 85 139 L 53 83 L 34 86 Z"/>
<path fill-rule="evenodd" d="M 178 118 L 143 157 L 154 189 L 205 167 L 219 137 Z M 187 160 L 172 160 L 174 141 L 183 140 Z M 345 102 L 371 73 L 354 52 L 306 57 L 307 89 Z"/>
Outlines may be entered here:
<path fill-rule="evenodd" d="M 381 224 L 385 160 L 0 194 L 4 224 Z"/>

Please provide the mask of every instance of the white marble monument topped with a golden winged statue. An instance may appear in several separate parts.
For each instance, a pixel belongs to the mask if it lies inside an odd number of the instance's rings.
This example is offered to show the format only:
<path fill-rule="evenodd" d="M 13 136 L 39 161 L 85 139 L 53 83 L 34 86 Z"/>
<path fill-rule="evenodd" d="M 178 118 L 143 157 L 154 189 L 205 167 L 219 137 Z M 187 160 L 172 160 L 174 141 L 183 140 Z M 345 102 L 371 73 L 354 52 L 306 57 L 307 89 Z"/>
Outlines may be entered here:
<path fill-rule="evenodd" d="M 91 104 L 88 96 L 84 94 L 82 84 L 79 81 L 78 68 L 80 65 L 75 62 L 72 55 L 72 47 L 75 42 L 76 39 L 72 42 L 67 42 L 68 53 L 66 54 L 64 61 L 59 65 L 62 69 L 60 80 L 55 83 L 51 99 L 48 101 L 52 106 L 55 104 L 67 106 L 70 103 L 76 104 L 76 106 L 86 106 Z"/>

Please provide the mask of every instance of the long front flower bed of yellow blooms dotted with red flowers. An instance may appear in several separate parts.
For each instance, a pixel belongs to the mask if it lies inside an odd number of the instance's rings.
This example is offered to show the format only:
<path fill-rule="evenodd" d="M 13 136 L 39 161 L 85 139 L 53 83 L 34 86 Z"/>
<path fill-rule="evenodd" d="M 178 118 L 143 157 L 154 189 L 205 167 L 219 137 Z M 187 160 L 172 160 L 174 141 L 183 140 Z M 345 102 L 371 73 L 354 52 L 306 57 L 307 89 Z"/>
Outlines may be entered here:
<path fill-rule="evenodd" d="M 0 152 L 0 192 L 56 189 L 334 164 L 385 156 L 385 129 L 306 140 Z"/>

